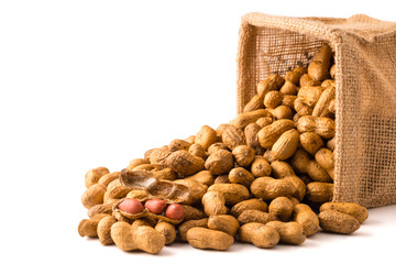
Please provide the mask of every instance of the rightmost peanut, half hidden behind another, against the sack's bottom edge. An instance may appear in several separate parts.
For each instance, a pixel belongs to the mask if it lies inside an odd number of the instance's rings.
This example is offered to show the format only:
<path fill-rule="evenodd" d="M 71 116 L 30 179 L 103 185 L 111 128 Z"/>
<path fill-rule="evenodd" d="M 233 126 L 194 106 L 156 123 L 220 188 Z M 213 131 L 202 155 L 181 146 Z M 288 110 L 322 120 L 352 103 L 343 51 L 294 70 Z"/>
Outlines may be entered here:
<path fill-rule="evenodd" d="M 321 205 L 320 211 L 336 210 L 354 217 L 360 223 L 364 222 L 369 217 L 369 210 L 355 202 L 326 202 Z"/>

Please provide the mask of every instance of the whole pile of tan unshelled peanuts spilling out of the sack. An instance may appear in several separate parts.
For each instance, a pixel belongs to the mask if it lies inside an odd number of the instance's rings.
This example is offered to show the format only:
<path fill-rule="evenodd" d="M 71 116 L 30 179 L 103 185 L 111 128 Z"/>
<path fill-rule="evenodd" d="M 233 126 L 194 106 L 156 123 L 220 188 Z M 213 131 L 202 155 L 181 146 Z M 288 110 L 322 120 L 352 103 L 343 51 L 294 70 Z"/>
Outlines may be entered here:
<path fill-rule="evenodd" d="M 331 202 L 336 66 L 323 45 L 308 67 L 260 81 L 244 112 L 216 130 L 174 140 L 121 172 L 87 172 L 81 237 L 123 251 L 158 253 L 175 240 L 228 250 L 268 249 L 318 232 L 349 234 L 369 217 Z"/>

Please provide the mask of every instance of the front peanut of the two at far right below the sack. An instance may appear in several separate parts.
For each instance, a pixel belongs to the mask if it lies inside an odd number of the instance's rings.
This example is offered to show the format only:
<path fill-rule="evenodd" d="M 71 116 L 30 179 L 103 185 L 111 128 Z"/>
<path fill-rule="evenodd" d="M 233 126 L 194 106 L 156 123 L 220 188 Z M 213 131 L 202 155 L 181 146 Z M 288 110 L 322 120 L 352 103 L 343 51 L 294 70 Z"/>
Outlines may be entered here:
<path fill-rule="evenodd" d="M 320 228 L 324 231 L 350 234 L 360 228 L 354 217 L 336 210 L 321 211 L 318 217 Z"/>

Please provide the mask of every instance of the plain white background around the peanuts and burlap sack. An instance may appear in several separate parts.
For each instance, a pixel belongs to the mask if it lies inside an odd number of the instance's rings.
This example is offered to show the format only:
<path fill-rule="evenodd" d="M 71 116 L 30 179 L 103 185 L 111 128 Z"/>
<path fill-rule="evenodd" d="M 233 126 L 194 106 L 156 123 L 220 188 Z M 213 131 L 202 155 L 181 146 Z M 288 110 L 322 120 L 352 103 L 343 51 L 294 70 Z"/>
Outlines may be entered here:
<path fill-rule="evenodd" d="M 393 257 L 395 206 L 371 209 L 353 235 L 318 233 L 301 246 L 272 250 L 174 244 L 152 256 L 77 233 L 86 170 L 119 170 L 151 147 L 234 117 L 241 15 L 365 13 L 395 21 L 392 1 L 0 2 L 1 263 Z"/>

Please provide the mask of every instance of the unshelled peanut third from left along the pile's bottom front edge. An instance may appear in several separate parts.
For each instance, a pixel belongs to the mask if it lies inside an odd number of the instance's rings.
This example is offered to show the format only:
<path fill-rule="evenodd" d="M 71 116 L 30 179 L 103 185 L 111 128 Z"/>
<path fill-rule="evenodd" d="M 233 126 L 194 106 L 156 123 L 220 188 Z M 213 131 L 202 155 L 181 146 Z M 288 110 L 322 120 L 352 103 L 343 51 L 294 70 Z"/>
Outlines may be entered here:
<path fill-rule="evenodd" d="M 243 224 L 240 228 L 239 238 L 242 242 L 252 243 L 261 249 L 271 249 L 280 239 L 276 229 L 258 222 Z"/>

